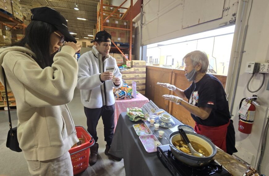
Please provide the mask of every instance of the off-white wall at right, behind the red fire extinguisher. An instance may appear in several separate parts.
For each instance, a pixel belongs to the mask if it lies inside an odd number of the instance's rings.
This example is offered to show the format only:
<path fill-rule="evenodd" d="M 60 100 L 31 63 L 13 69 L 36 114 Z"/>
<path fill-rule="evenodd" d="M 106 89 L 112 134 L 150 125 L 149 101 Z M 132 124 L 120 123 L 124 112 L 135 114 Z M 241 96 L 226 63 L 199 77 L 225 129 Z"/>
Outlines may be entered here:
<path fill-rule="evenodd" d="M 241 6 L 244 4 L 241 3 Z M 251 7 L 251 1 L 249 4 L 247 4 L 247 15 Z M 243 9 L 242 9 L 243 10 Z M 236 86 L 236 92 L 234 97 L 234 104 L 233 104 L 233 111 L 231 112 L 234 116 L 234 126 L 238 129 L 238 115 L 237 112 L 239 110 L 239 103 L 240 100 L 244 97 L 251 97 L 253 94 L 258 95 L 257 102 L 260 103 L 260 106 L 256 106 L 256 115 L 255 115 L 255 121 L 252 128 L 252 133 L 250 135 L 238 132 L 236 129 L 236 145 L 238 149 L 238 153 L 236 155 L 238 157 L 241 157 L 248 163 L 250 163 L 253 166 L 256 166 L 258 162 L 258 158 L 260 155 L 261 150 L 261 140 L 263 137 L 264 132 L 264 125 L 266 123 L 266 118 L 268 117 L 268 98 L 269 98 L 269 91 L 266 90 L 266 86 L 268 83 L 268 77 L 267 74 L 265 76 L 265 82 L 261 90 L 259 90 L 256 93 L 250 93 L 247 89 L 247 82 L 250 79 L 251 74 L 244 73 L 246 62 L 248 61 L 255 61 L 255 62 L 268 62 L 269 58 L 269 2 L 267 0 L 261 0 L 261 1 L 253 1 L 252 8 L 250 11 L 250 17 L 248 21 L 248 27 L 246 32 L 246 38 L 245 38 L 245 44 L 243 51 L 246 51 L 242 54 L 242 61 L 240 64 L 240 70 L 239 70 L 239 77 L 238 77 L 238 84 Z M 243 24 L 241 26 L 241 31 L 244 31 L 245 25 L 247 23 L 247 17 L 243 19 Z M 239 25 L 236 31 L 240 30 Z M 236 44 L 236 33 L 235 32 L 235 38 L 234 38 L 234 44 Z M 239 37 L 240 38 L 240 37 Z M 239 48 L 241 49 L 242 42 L 239 43 Z M 240 58 L 240 49 L 239 52 L 235 52 L 236 46 L 233 46 L 231 61 L 235 61 L 236 65 L 238 63 L 238 60 Z M 231 88 L 227 90 L 229 93 L 229 101 L 232 97 L 233 89 L 234 89 L 234 80 L 235 75 L 237 73 L 238 67 L 236 66 L 233 70 L 233 65 L 230 65 L 230 74 L 228 75 L 228 82 L 231 80 L 232 85 Z M 233 72 L 233 74 L 231 74 Z M 249 86 L 250 90 L 257 90 L 258 87 L 262 83 L 262 75 L 255 74 L 254 78 L 251 81 L 251 84 Z M 265 155 L 263 158 L 262 163 L 262 173 L 268 174 L 268 153 L 269 151 L 269 144 L 267 141 L 267 148 L 265 151 Z"/>

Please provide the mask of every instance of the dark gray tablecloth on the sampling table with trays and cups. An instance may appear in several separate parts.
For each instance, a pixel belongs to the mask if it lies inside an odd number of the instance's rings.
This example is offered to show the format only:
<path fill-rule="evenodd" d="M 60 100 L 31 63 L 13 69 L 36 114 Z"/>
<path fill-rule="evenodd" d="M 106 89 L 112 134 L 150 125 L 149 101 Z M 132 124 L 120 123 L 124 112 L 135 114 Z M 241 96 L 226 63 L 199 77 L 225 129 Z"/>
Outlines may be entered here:
<path fill-rule="evenodd" d="M 182 124 L 174 117 L 172 118 L 175 120 L 176 125 Z M 169 170 L 164 167 L 157 157 L 156 152 L 147 153 L 144 149 L 141 141 L 139 140 L 139 136 L 137 136 L 133 128 L 133 124 L 141 123 L 144 122 L 132 122 L 129 120 L 126 112 L 121 113 L 109 153 L 124 159 L 125 173 L 128 176 L 171 175 Z M 169 128 L 159 128 L 159 130 L 164 131 L 164 137 L 161 139 L 159 138 L 158 131 L 155 131 L 154 127 L 151 127 L 149 122 L 146 122 L 146 124 L 162 145 L 169 144 L 169 135 L 172 133 Z"/>

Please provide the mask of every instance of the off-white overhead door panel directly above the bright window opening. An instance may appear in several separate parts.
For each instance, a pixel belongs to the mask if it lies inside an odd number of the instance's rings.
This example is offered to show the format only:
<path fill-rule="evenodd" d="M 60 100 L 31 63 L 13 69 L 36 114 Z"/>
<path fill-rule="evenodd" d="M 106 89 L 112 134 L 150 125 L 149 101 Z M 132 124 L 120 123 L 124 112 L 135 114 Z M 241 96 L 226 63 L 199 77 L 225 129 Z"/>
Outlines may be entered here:
<path fill-rule="evenodd" d="M 212 4 L 207 4 L 208 2 Z M 232 24 L 233 14 L 237 11 L 236 2 L 237 0 L 144 0 L 143 44 L 152 44 Z M 184 11 L 186 4 L 188 9 Z M 220 5 L 224 6 L 223 8 L 230 8 L 223 10 Z M 214 10 L 215 6 L 217 11 Z M 198 12 L 202 14 L 200 17 L 197 15 Z M 223 17 L 220 18 L 220 15 Z M 195 18 L 191 19 L 191 16 Z M 209 20 L 213 21 L 203 23 Z M 199 25 L 193 26 L 198 23 Z M 187 27 L 188 25 L 190 27 Z"/>

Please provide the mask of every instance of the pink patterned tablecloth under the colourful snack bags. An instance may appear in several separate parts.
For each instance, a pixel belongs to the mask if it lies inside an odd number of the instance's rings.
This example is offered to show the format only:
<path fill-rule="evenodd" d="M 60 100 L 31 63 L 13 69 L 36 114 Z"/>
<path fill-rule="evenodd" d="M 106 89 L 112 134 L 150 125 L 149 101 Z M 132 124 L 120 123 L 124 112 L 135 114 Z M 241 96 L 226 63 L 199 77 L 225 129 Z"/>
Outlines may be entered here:
<path fill-rule="evenodd" d="M 140 107 L 141 108 L 147 102 L 148 102 L 147 97 L 143 96 L 142 94 L 137 94 L 136 98 L 132 98 L 132 99 L 116 100 L 116 102 L 115 102 L 115 115 L 114 115 L 115 128 L 117 126 L 117 121 L 118 121 L 119 115 L 122 112 L 126 112 L 127 107 Z M 115 128 L 114 128 L 114 130 L 115 130 Z"/>

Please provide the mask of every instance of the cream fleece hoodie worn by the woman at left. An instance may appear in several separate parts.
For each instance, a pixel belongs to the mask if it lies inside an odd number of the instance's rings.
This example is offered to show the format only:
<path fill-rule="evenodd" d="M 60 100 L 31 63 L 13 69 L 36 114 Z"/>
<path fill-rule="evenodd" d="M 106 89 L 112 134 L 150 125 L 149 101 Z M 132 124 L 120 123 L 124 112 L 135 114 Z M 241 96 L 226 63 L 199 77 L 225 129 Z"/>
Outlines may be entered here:
<path fill-rule="evenodd" d="M 72 47 L 64 46 L 54 56 L 52 66 L 42 69 L 31 57 L 36 55 L 27 48 L 0 49 L 0 64 L 16 99 L 17 135 L 26 160 L 60 157 L 79 141 L 66 105 L 77 83 L 74 55 Z M 2 67 L 0 81 L 4 84 Z"/>

